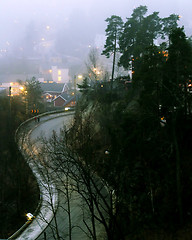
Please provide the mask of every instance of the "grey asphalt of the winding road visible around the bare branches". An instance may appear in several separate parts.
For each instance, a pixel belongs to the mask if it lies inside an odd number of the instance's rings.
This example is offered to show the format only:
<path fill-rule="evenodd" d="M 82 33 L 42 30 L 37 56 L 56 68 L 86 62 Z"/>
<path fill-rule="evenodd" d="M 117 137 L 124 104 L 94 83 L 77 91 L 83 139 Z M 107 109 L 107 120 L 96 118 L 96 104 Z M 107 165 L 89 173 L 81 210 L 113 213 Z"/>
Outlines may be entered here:
<path fill-rule="evenodd" d="M 59 134 L 60 129 L 63 126 L 69 127 L 72 121 L 71 116 L 68 117 L 59 117 L 57 119 L 49 120 L 44 122 L 43 124 L 39 125 L 35 128 L 31 134 L 30 139 L 34 144 L 39 147 L 42 143 L 39 139 L 39 136 L 43 136 L 45 138 L 50 138 L 53 131 Z M 59 184 L 59 182 L 58 182 Z M 69 222 L 68 222 L 68 215 L 64 211 L 67 209 L 67 202 L 66 196 L 64 194 L 64 190 L 62 191 L 62 183 L 57 186 L 58 191 L 58 201 L 59 205 L 57 208 L 56 216 L 53 218 L 52 222 L 49 224 L 47 229 L 45 229 L 42 234 L 37 238 L 38 240 L 44 240 L 45 234 L 47 239 L 65 239 L 68 240 L 69 238 Z M 64 188 L 64 187 L 63 187 Z M 90 234 L 87 232 L 84 219 L 82 217 L 82 198 L 77 192 L 72 192 L 70 196 L 70 208 L 71 208 L 71 222 L 72 222 L 72 239 L 73 240 L 88 240 L 90 239 Z M 85 206 L 84 206 L 85 208 Z M 89 222 L 89 220 L 88 220 Z M 58 228 L 58 236 L 56 233 L 55 225 L 57 224 Z M 103 235 L 102 228 L 97 226 L 99 230 L 97 230 L 99 235 Z M 54 235 L 54 236 L 53 236 Z M 100 237 L 99 239 L 103 239 Z"/>

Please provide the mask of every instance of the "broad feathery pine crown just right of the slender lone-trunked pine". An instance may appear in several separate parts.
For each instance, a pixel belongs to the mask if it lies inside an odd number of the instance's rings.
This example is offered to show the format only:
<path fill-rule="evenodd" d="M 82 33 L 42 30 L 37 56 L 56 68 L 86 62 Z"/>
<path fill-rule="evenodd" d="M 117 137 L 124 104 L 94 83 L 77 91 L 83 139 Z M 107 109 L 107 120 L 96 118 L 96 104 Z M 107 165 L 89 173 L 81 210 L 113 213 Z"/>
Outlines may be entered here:
<path fill-rule="evenodd" d="M 130 18 L 124 24 L 119 46 L 121 57 L 119 64 L 126 69 L 135 71 L 140 65 L 140 57 L 146 49 L 154 46 L 157 38 L 165 39 L 177 27 L 178 15 L 172 14 L 160 18 L 158 12 L 145 16 L 147 7 L 140 6 L 133 10 Z"/>

